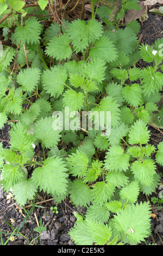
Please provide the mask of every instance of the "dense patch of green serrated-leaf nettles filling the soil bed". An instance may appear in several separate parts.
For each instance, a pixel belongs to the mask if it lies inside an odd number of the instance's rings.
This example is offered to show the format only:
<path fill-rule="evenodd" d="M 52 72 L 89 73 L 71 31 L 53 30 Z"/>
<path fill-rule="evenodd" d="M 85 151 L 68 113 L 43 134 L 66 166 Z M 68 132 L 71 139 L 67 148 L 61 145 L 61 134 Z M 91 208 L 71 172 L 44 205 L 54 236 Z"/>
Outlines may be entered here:
<path fill-rule="evenodd" d="M 0 58 L 0 126 L 11 125 L 1 184 L 21 206 L 42 190 L 56 203 L 70 196 L 86 206 L 70 230 L 76 245 L 136 245 L 151 233 L 150 205 L 138 199 L 158 187 L 156 163 L 163 164 L 163 142 L 149 144 L 147 126 L 161 97 L 163 41 L 139 46 L 138 28 L 134 21 L 104 29 L 91 19 L 43 31 L 32 17 L 11 34 L 18 50 L 7 47 Z M 140 58 L 146 68 L 136 67 Z M 66 108 L 74 129 L 54 129 L 61 119 L 53 113 L 65 120 Z M 103 129 L 95 118 L 92 130 L 82 127 L 83 111 L 110 112 L 111 132 L 106 118 Z"/>

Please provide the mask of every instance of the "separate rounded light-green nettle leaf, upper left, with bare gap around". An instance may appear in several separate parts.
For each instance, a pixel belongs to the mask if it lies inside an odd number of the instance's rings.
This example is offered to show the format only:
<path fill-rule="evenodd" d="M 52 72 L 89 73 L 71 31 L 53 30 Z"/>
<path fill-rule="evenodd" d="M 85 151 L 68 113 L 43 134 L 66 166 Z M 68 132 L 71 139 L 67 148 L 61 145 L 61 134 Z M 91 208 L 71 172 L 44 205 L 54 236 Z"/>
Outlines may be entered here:
<path fill-rule="evenodd" d="M 17 83 L 24 92 L 32 92 L 40 80 L 41 70 L 38 68 L 21 69 L 17 76 Z"/>

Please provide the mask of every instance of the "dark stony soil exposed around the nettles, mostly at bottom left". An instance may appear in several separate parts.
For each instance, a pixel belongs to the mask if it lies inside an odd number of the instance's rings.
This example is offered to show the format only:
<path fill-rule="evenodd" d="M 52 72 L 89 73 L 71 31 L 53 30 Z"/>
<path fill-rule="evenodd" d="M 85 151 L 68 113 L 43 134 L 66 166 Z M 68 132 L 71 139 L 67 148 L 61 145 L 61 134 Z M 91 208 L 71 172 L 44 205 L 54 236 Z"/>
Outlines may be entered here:
<path fill-rule="evenodd" d="M 140 42 L 147 43 L 151 45 L 155 40 L 161 38 L 163 34 L 163 17 L 158 15 L 148 14 L 149 18 L 147 21 L 143 22 L 141 25 L 141 31 L 139 33 Z M 143 67 L 143 62 L 140 60 L 139 65 Z M 163 139 L 163 130 L 157 129 L 155 127 L 149 126 L 151 130 L 151 144 L 155 146 Z M 4 148 L 9 147 L 9 130 L 10 126 L 5 125 L 2 130 L 0 130 L 0 141 L 3 143 Z M 162 176 L 163 167 L 157 165 L 157 172 Z M 163 184 L 163 181 L 161 179 Z M 140 200 L 147 201 L 151 197 L 158 197 L 160 190 L 156 190 L 152 196 L 145 197 L 142 195 Z M 44 202 L 43 202 L 44 201 Z M 43 202 L 43 203 L 40 203 Z M 151 202 L 150 202 L 151 203 Z M 34 245 L 74 245 L 71 241 L 68 231 L 73 227 L 76 218 L 74 217 L 73 211 L 80 210 L 85 212 L 85 208 L 76 208 L 67 198 L 61 204 L 58 204 L 58 214 L 53 214 L 50 210 L 51 206 L 55 206 L 53 198 L 45 193 L 39 193 L 35 198 L 34 210 L 30 212 L 30 216 L 27 218 L 26 222 L 22 222 L 24 217 L 26 217 L 27 212 L 29 211 L 30 202 L 25 206 L 26 212 L 23 209 L 20 209 L 14 200 L 14 198 L 7 199 L 7 193 L 2 190 L 0 187 L 0 230 L 2 233 L 12 233 L 13 229 L 10 228 L 9 224 L 13 228 L 19 228 L 20 233 L 23 235 L 15 236 L 14 241 L 8 241 L 8 245 L 28 245 L 29 242 Z M 151 203 L 152 205 L 152 203 Z M 41 206 L 41 207 L 39 207 Z M 152 205 L 153 216 L 152 219 L 152 235 L 146 239 L 147 245 L 149 243 L 155 243 L 156 245 L 163 245 L 163 208 L 157 209 L 156 205 Z M 43 231 L 40 238 L 39 233 L 34 231 L 34 228 L 37 227 L 37 222 L 40 223 L 40 220 L 44 222 L 47 230 Z M 9 224 L 7 224 L 9 223 Z M 16 233 L 15 233 L 16 234 Z M 7 241 L 9 234 L 2 234 L 3 242 Z M 28 242 L 29 241 L 29 242 Z M 1 244 L 1 243 L 0 243 Z M 141 245 L 145 245 L 144 242 Z"/>

